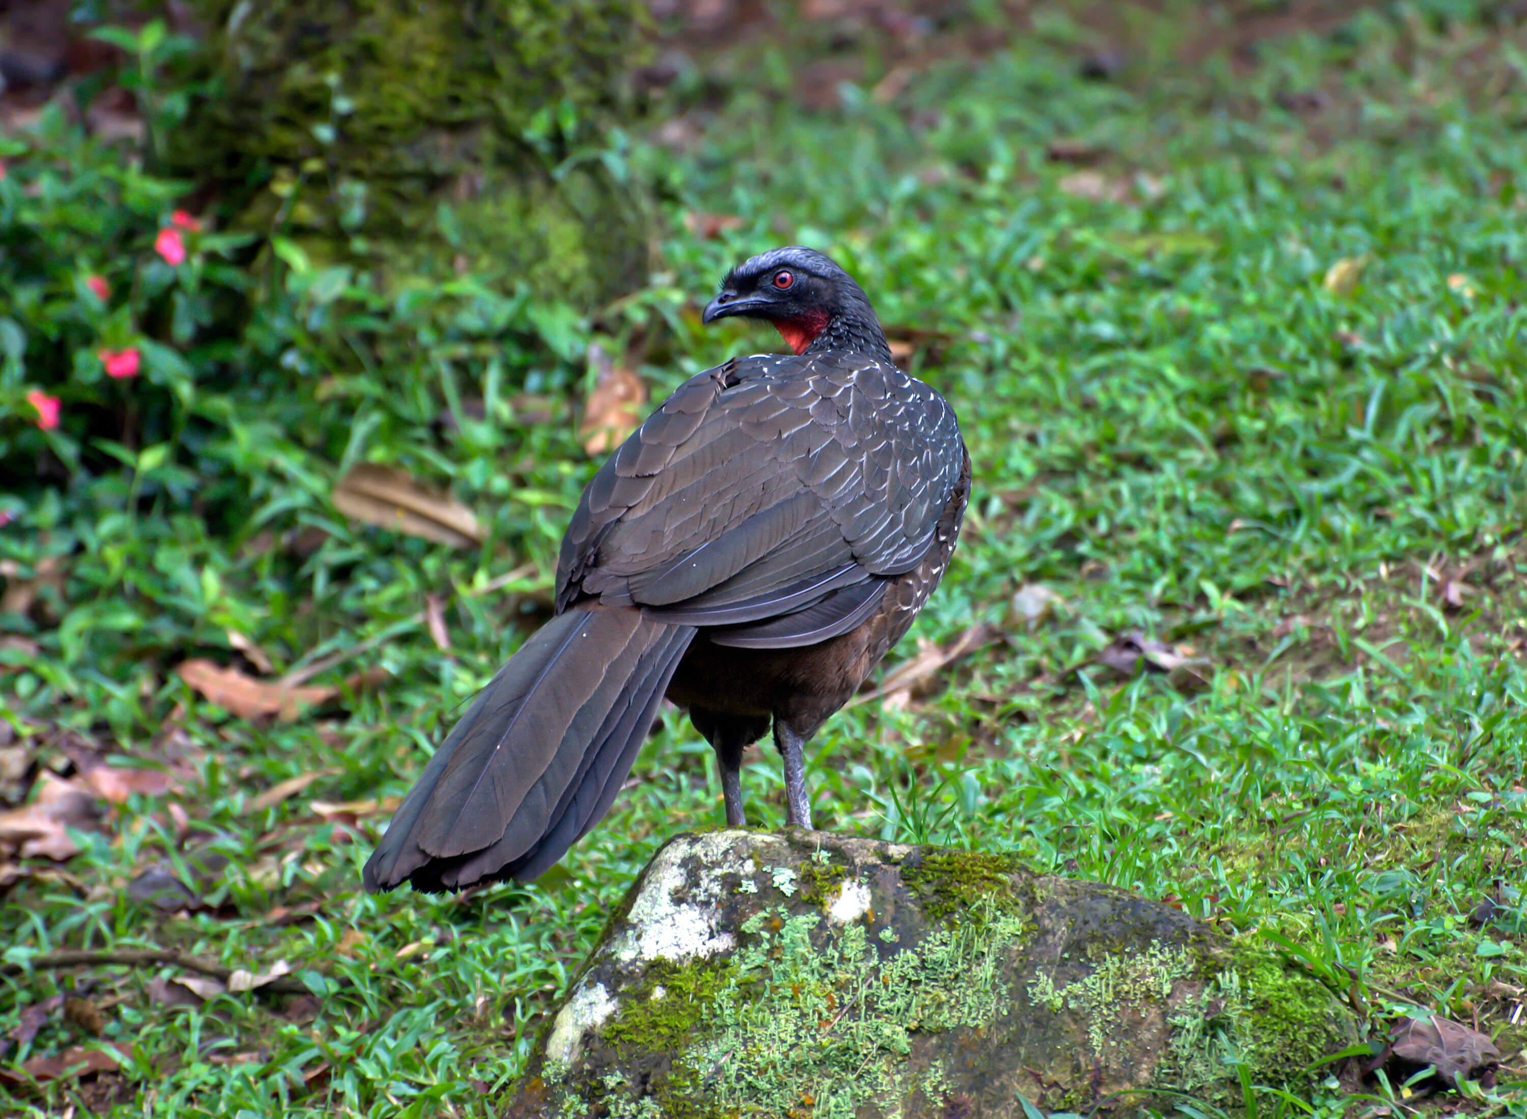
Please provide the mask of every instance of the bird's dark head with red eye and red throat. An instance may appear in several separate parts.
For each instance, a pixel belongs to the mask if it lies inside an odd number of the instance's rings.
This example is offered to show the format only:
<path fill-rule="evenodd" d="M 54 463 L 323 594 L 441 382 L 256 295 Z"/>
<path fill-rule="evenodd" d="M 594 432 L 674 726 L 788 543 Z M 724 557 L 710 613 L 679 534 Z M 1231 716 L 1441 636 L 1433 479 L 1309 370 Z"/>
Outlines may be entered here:
<path fill-rule="evenodd" d="M 855 350 L 890 362 L 886 334 L 863 289 L 815 249 L 770 249 L 731 269 L 701 321 L 733 314 L 773 322 L 797 354 Z"/>

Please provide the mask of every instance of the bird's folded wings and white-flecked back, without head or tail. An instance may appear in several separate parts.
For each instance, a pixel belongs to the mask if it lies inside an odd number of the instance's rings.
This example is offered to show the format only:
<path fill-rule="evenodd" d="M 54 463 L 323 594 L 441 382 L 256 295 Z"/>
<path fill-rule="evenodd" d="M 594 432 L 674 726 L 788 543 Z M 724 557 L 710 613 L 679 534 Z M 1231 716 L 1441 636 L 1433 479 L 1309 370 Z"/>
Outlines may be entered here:
<path fill-rule="evenodd" d="M 873 357 L 728 362 L 684 382 L 583 490 L 557 608 L 597 597 L 701 626 L 818 608 L 799 624 L 820 634 L 864 606 L 861 588 L 835 615 L 834 592 L 922 559 L 960 458 L 944 398 Z"/>

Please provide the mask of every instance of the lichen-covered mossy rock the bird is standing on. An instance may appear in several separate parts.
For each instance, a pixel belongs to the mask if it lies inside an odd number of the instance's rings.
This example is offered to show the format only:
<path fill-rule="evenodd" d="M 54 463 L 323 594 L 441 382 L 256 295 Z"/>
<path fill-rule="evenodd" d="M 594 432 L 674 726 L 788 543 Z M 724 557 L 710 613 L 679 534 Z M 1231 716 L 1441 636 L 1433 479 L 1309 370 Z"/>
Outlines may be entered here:
<path fill-rule="evenodd" d="M 1234 1111 L 1356 1040 L 1319 983 L 1167 905 L 828 834 L 667 843 L 512 1116 Z"/>

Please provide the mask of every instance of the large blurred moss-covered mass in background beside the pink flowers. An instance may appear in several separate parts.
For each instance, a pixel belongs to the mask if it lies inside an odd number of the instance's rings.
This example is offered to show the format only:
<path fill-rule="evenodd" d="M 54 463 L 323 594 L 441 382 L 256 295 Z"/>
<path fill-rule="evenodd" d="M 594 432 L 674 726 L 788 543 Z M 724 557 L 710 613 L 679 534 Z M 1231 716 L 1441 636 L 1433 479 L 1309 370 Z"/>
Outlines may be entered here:
<path fill-rule="evenodd" d="M 470 270 L 591 305 L 644 282 L 641 188 L 568 160 L 620 119 L 634 0 L 192 6 L 211 89 L 168 157 L 240 226 L 392 285 Z"/>

